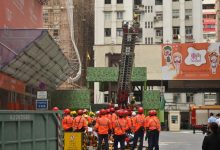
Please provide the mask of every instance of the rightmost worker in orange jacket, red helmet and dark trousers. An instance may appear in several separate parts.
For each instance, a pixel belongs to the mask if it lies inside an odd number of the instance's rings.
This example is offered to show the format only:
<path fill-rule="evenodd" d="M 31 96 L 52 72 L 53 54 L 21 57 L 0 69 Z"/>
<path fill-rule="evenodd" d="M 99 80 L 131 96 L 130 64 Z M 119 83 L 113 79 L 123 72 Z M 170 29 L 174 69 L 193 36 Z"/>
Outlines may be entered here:
<path fill-rule="evenodd" d="M 149 150 L 159 150 L 159 133 L 161 130 L 160 120 L 158 119 L 157 111 L 151 110 L 149 120 L 146 124 L 148 130 L 148 147 Z"/>

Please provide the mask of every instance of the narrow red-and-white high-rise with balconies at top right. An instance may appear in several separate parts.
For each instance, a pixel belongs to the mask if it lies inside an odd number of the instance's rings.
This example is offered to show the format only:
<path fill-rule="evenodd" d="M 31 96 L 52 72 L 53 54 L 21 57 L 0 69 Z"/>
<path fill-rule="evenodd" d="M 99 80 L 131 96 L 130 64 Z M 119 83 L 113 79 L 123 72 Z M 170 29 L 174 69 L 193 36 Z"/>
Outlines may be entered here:
<path fill-rule="evenodd" d="M 207 42 L 216 41 L 215 0 L 203 0 L 203 38 Z"/>

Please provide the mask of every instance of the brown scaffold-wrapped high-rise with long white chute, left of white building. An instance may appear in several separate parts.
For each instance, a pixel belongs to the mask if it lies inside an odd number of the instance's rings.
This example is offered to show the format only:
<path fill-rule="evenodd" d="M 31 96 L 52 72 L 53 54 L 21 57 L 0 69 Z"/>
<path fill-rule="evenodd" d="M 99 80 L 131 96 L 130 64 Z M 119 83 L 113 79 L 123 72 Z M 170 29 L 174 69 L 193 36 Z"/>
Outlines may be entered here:
<path fill-rule="evenodd" d="M 93 46 L 93 8 L 94 0 L 50 0 L 43 7 L 44 28 L 48 29 L 52 37 L 57 41 L 65 56 L 75 68 L 73 76 L 81 74 L 76 82 L 68 80 L 60 86 L 60 89 L 85 86 L 86 67 L 92 63 Z M 73 34 L 74 33 L 74 34 Z M 73 42 L 76 43 L 74 47 Z M 77 54 L 77 51 L 79 52 Z M 78 62 L 78 56 L 82 65 Z"/>

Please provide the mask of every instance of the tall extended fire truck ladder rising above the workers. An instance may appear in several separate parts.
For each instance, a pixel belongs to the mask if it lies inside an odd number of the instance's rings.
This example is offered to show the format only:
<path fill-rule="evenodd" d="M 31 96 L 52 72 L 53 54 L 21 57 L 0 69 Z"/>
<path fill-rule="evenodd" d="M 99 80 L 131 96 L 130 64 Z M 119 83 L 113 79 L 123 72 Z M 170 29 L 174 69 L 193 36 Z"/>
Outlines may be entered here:
<path fill-rule="evenodd" d="M 123 40 L 121 48 L 121 61 L 118 76 L 118 105 L 126 108 L 129 93 L 131 92 L 131 74 L 134 62 L 134 48 L 137 32 L 135 28 L 123 26 Z"/>

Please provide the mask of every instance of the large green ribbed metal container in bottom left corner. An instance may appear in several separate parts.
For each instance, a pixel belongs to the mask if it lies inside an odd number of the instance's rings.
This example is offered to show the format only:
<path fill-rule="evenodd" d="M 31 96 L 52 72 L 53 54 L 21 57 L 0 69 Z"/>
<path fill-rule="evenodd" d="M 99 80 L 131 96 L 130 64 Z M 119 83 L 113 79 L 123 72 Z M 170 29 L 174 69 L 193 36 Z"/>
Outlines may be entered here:
<path fill-rule="evenodd" d="M 0 150 L 58 150 L 58 120 L 49 111 L 0 111 Z"/>

